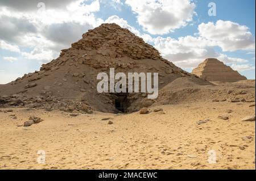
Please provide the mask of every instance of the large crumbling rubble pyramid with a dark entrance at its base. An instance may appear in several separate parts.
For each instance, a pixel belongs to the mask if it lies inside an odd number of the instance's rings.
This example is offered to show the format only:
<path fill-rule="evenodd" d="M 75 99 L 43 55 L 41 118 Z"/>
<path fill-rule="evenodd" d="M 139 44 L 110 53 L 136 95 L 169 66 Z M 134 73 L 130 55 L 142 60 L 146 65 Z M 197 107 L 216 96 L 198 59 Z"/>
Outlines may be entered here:
<path fill-rule="evenodd" d="M 71 48 L 61 50 L 60 56 L 43 64 L 40 71 L 1 85 L 0 107 L 133 112 L 154 103 L 144 93 L 99 93 L 97 74 L 109 74 L 110 68 L 126 74 L 159 73 L 159 90 L 180 77 L 199 79 L 162 58 L 158 50 L 129 30 L 102 24 L 82 35 Z"/>

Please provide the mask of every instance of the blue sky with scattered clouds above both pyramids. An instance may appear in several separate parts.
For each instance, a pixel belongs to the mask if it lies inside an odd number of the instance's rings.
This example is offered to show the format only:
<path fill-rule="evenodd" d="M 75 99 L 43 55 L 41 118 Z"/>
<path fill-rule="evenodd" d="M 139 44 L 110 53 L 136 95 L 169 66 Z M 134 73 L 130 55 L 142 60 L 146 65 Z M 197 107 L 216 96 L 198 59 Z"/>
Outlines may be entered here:
<path fill-rule="evenodd" d="M 209 16 L 208 4 L 216 5 Z M 101 23 L 117 23 L 191 71 L 216 57 L 255 79 L 255 1 L 0 1 L 0 83 L 33 72 Z"/>

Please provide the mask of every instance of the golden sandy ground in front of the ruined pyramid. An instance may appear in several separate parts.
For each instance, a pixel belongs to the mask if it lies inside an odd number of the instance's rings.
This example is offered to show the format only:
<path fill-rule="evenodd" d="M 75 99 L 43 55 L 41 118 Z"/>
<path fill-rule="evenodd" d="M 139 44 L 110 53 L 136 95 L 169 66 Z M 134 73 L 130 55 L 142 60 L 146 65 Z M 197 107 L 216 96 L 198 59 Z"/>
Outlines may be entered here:
<path fill-rule="evenodd" d="M 250 104 L 199 102 L 159 106 L 165 114 L 77 117 L 13 108 L 0 112 L 0 169 L 255 169 L 255 122 L 241 121 L 255 115 Z M 217 118 L 228 109 L 229 120 Z M 30 115 L 43 121 L 17 126 Z M 201 119 L 210 121 L 198 125 Z M 253 140 L 243 141 L 246 136 Z M 45 151 L 46 163 L 37 162 L 38 150 Z"/>

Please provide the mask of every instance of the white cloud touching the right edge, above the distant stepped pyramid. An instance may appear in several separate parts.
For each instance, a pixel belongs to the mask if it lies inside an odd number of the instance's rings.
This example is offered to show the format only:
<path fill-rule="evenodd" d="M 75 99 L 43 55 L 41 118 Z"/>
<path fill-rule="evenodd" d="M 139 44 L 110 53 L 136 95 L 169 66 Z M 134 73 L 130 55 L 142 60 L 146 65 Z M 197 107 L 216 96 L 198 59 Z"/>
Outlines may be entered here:
<path fill-rule="evenodd" d="M 198 30 L 201 37 L 214 41 L 224 52 L 255 50 L 255 38 L 249 28 L 238 23 L 218 20 L 216 24 L 201 23 Z"/>

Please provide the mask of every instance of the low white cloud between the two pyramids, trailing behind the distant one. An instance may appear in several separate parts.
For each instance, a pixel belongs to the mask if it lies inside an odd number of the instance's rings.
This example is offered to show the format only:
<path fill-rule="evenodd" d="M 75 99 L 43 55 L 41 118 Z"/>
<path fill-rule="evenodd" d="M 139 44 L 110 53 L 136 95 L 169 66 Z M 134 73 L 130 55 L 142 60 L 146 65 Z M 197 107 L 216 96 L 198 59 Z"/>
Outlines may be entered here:
<path fill-rule="evenodd" d="M 242 58 L 229 57 L 216 52 L 213 41 L 203 37 L 185 36 L 177 40 L 171 37 L 157 37 L 154 39 L 154 44 L 164 58 L 181 68 L 195 68 L 209 57 L 218 58 L 225 64 L 248 62 Z"/>

